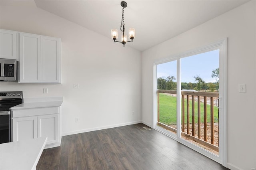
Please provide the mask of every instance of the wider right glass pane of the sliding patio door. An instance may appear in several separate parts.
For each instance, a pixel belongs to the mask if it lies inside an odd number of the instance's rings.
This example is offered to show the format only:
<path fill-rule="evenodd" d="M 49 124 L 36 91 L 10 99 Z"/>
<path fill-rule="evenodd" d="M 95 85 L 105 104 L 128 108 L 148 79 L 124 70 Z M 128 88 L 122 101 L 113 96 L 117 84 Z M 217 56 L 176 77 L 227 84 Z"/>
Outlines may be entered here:
<path fill-rule="evenodd" d="M 219 49 L 180 59 L 181 138 L 219 154 Z"/>

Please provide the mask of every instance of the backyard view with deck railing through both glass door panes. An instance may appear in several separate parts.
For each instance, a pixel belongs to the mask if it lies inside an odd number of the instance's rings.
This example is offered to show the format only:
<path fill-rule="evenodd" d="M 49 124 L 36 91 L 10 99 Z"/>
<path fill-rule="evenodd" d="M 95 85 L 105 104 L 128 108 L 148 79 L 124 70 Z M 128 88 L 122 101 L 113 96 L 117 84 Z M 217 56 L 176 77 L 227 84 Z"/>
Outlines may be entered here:
<path fill-rule="evenodd" d="M 157 65 L 157 125 L 218 154 L 219 50 L 180 59 L 181 97 L 177 113 L 177 61 Z"/>

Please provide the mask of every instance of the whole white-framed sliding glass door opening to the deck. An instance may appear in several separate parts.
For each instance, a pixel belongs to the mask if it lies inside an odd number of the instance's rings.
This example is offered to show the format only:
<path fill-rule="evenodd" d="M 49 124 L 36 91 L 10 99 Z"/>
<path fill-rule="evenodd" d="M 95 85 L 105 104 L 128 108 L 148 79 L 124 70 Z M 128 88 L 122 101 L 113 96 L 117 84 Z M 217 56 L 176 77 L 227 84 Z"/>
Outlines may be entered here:
<path fill-rule="evenodd" d="M 225 41 L 155 63 L 154 126 L 226 162 Z"/>

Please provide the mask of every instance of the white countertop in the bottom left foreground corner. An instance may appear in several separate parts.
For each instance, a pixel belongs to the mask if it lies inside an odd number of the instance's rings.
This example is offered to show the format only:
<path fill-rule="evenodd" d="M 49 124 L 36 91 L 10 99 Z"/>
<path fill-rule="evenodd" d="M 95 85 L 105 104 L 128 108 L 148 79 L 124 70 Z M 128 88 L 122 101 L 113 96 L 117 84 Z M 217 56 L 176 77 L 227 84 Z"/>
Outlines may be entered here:
<path fill-rule="evenodd" d="M 0 169 L 36 170 L 46 142 L 47 137 L 0 144 Z"/>

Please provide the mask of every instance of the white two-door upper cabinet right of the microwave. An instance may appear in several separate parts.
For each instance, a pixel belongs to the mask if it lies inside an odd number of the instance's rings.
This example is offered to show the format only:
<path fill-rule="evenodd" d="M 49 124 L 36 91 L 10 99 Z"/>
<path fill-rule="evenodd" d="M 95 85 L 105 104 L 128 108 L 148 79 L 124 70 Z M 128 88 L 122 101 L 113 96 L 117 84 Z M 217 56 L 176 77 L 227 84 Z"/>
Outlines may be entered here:
<path fill-rule="evenodd" d="M 19 83 L 60 83 L 60 38 L 20 33 Z"/>

